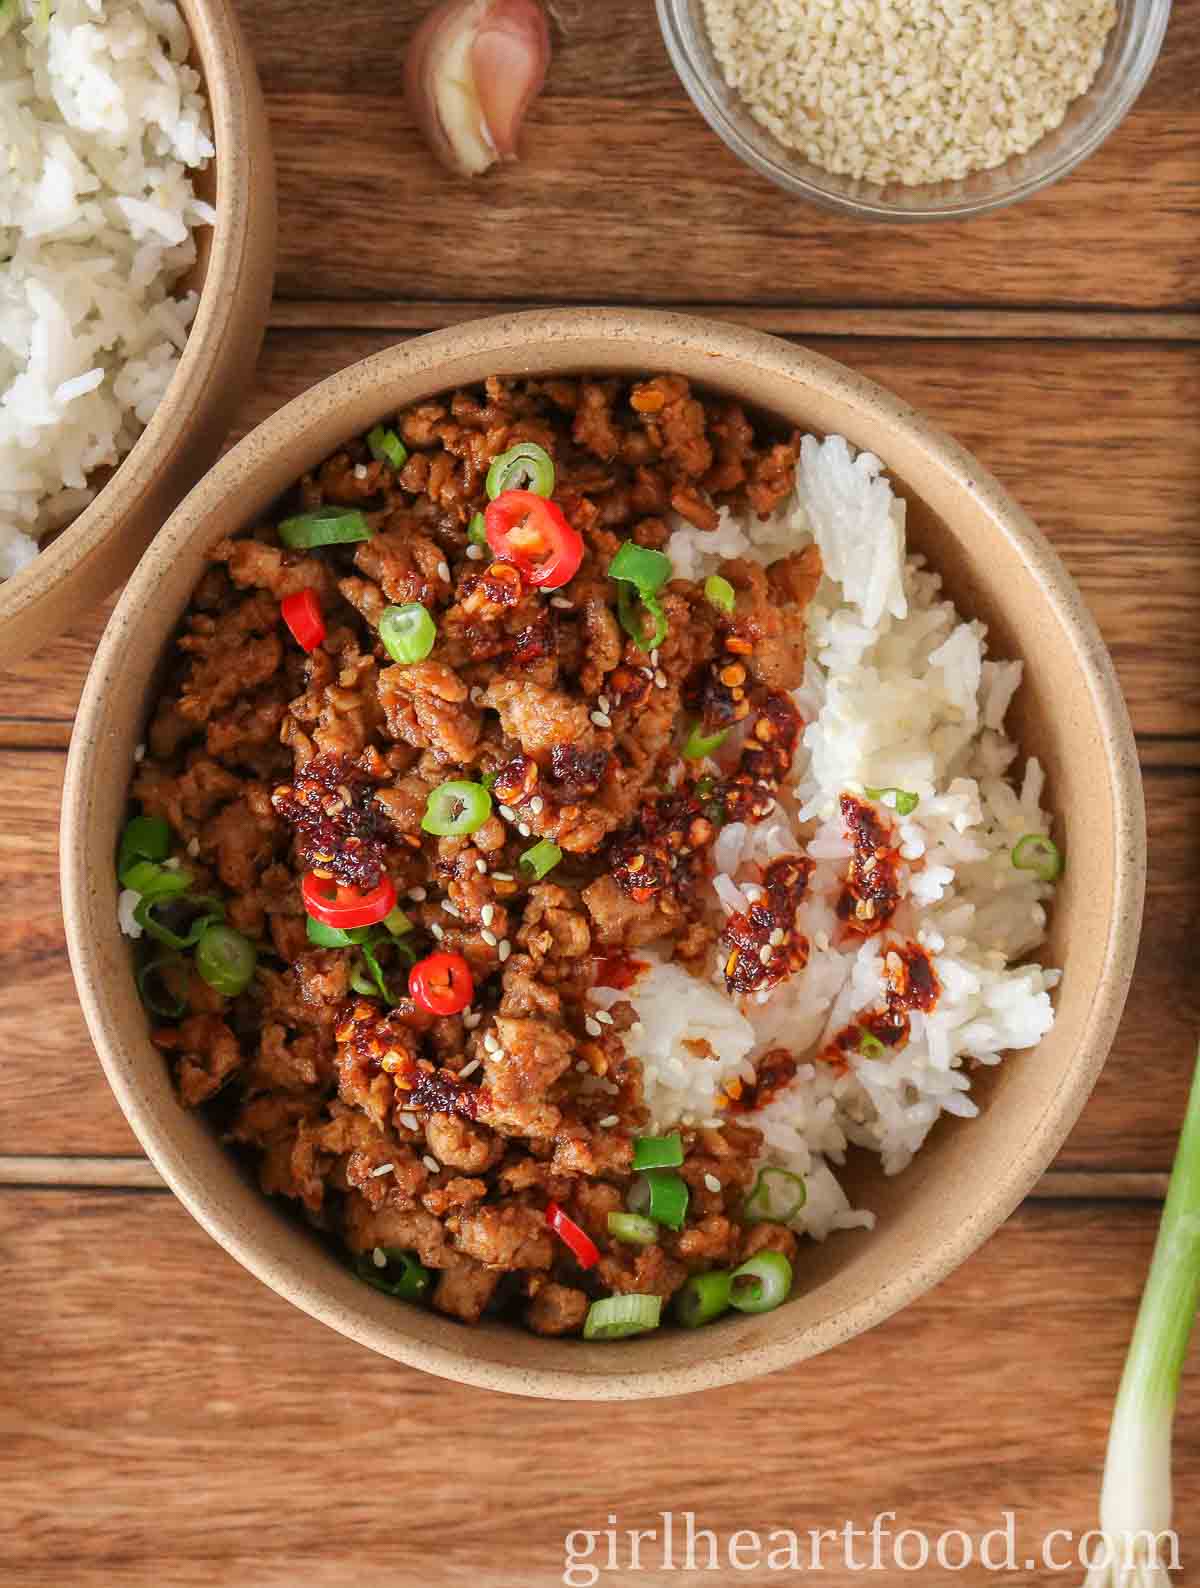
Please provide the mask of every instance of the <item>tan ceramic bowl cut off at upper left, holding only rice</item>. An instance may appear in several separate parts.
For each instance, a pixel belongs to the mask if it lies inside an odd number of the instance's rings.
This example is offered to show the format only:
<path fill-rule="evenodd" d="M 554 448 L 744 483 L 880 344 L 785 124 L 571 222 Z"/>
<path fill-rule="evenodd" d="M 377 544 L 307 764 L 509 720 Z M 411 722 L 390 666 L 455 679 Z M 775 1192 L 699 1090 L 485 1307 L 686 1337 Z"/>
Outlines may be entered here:
<path fill-rule="evenodd" d="M 221 451 L 254 364 L 275 276 L 275 165 L 254 59 L 232 0 L 179 0 L 205 79 L 216 159 L 195 178 L 216 205 L 197 229 L 200 291 L 159 408 L 95 500 L 27 569 L 0 581 L 0 667 L 71 627 L 137 564 Z"/>

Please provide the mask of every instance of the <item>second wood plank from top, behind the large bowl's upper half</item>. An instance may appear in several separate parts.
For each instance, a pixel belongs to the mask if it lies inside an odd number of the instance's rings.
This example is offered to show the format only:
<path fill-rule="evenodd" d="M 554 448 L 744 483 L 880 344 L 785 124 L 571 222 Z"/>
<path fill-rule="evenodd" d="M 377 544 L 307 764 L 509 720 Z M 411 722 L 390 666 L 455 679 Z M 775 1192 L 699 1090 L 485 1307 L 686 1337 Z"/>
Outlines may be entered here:
<path fill-rule="evenodd" d="M 273 332 L 237 434 L 395 340 L 387 330 Z M 1138 732 L 1200 732 L 1200 448 L 1194 426 L 1200 349 L 806 340 L 941 422 L 1029 508 L 1079 581 L 1113 648 Z M 73 716 L 108 610 L 111 603 L 5 676 L 0 700 L 8 721 L 44 724 Z M 52 743 L 56 735 L 48 730 L 35 742 Z M 13 743 L 3 729 L 0 743 Z"/>

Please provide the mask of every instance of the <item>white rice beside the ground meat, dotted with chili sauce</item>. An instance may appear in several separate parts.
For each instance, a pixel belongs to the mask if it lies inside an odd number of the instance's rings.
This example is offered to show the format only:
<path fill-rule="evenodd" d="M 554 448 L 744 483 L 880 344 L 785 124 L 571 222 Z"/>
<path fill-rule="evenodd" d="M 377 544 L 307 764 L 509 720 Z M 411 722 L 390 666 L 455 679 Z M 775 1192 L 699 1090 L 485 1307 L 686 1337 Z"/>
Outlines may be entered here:
<path fill-rule="evenodd" d="M 719 951 L 711 980 L 654 961 L 632 992 L 594 997 L 605 1005 L 630 997 L 637 1007 L 641 1034 L 625 1040 L 641 1059 L 656 1129 L 719 1120 L 729 1081 L 749 1078 L 773 1046 L 802 1061 L 794 1081 L 743 1118 L 763 1132 L 763 1162 L 805 1177 L 795 1226 L 824 1239 L 875 1223 L 851 1208 L 838 1183 L 848 1147 L 878 1153 L 884 1170 L 898 1174 L 943 1113 L 973 1116 L 967 1061 L 998 1064 L 1040 1042 L 1054 1019 L 1059 972 L 1017 964 L 1041 942 L 1054 892 L 1011 861 L 1017 838 L 1051 827 L 1038 762 L 1010 781 L 1017 750 L 1003 718 L 1022 664 L 989 659 L 984 626 L 963 621 L 941 597 L 938 575 L 906 557 L 905 503 L 879 461 L 854 456 L 841 437 L 806 437 L 795 494 L 768 522 L 725 511 L 705 535 L 678 521 L 667 549 L 678 575 L 702 578 L 721 557 L 767 562 L 813 540 L 825 578 L 794 692 L 808 726 L 775 811 L 721 831 L 711 899 L 722 916 L 744 910 L 760 864 L 808 854 L 816 870 L 800 927 L 811 958 L 763 1002 L 727 994 Z M 833 908 L 851 854 L 838 799 L 865 788 L 911 791 L 919 804 L 892 818 L 906 862 L 892 923 L 846 943 Z M 911 1013 L 903 1046 L 878 1059 L 848 1054 L 840 1073 L 817 1054 L 884 1007 L 883 956 L 905 940 L 930 954 L 937 1007 Z"/>

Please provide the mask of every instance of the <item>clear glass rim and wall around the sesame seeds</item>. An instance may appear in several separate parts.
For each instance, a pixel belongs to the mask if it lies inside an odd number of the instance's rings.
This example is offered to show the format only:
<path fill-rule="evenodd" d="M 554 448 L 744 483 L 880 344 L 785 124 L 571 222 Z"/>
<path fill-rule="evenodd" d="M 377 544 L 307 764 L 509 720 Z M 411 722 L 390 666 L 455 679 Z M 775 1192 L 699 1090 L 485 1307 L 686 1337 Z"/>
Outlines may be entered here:
<path fill-rule="evenodd" d="M 1171 16 L 1171 0 L 1146 0 L 1148 16 L 1143 22 L 1143 37 L 1138 46 L 1133 70 L 1124 79 L 1121 92 L 1114 97 L 1108 114 L 1097 122 L 1078 148 L 1063 154 L 1048 170 L 1025 176 L 1006 192 L 997 194 L 990 198 L 963 198 L 957 203 L 929 203 L 924 206 L 914 205 L 913 208 L 897 208 L 895 205 L 884 203 L 879 198 L 851 198 L 833 192 L 829 187 L 822 187 L 817 183 L 806 181 L 789 165 L 773 159 L 759 143 L 746 138 L 741 129 L 737 127 L 725 114 L 708 73 L 700 67 L 695 56 L 687 48 L 687 41 L 679 24 L 679 10 L 686 3 L 687 0 L 656 0 L 659 30 L 667 46 L 667 54 L 670 56 L 675 75 L 679 78 L 684 92 L 725 148 L 760 176 L 765 176 L 770 183 L 775 183 L 776 187 L 783 187 L 797 198 L 806 198 L 810 203 L 814 203 L 822 210 L 832 211 L 833 214 L 852 216 L 857 221 L 889 222 L 967 221 L 978 214 L 990 214 L 995 210 L 1006 210 L 1010 205 L 1017 203 L 1017 200 L 1029 198 L 1043 187 L 1049 187 L 1063 176 L 1068 176 L 1076 165 L 1081 165 L 1083 160 L 1095 154 L 1100 145 L 1116 132 L 1137 103 L 1159 59 L 1162 40 L 1167 33 L 1167 24 Z M 1037 145 L 1033 145 L 1033 148 L 1037 148 Z"/>

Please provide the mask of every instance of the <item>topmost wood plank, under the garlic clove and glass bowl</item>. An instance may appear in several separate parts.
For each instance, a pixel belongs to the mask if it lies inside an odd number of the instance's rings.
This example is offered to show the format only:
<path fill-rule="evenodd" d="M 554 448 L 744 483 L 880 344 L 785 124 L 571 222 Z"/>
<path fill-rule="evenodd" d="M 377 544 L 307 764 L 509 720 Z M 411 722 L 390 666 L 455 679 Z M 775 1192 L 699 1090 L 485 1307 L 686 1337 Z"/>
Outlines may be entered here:
<path fill-rule="evenodd" d="M 521 164 L 452 181 L 400 94 L 424 10 L 243 6 L 276 141 L 281 297 L 1197 306 L 1195 5 L 1070 178 L 932 227 L 829 216 L 741 165 L 687 100 L 649 0 L 563 6 Z M 316 246 L 317 216 L 344 246 Z"/>

